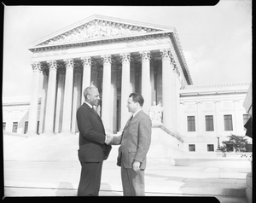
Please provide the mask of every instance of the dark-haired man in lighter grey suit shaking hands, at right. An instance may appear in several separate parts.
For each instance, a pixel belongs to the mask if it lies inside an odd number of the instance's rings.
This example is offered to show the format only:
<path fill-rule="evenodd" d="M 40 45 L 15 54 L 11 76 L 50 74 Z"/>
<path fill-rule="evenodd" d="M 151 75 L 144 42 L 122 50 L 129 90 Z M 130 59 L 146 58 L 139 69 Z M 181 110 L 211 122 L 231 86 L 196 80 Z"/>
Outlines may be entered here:
<path fill-rule="evenodd" d="M 107 144 L 119 147 L 118 164 L 124 196 L 144 196 L 144 170 L 146 154 L 151 142 L 151 119 L 143 112 L 143 96 L 131 93 L 127 107 L 133 115 L 127 121 L 121 136 L 112 136 Z"/>

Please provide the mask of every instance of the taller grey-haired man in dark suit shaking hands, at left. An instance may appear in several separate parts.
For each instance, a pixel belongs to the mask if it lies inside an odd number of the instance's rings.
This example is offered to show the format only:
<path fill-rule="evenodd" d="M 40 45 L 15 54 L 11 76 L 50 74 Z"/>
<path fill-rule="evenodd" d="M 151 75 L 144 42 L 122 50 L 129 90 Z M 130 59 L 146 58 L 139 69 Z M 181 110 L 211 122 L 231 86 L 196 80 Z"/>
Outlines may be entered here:
<path fill-rule="evenodd" d="M 84 90 L 84 104 L 77 111 L 79 127 L 79 161 L 82 166 L 78 196 L 98 196 L 102 162 L 108 158 L 111 146 L 105 144 L 110 139 L 106 136 L 102 119 L 93 106 L 100 101 L 96 87 Z"/>

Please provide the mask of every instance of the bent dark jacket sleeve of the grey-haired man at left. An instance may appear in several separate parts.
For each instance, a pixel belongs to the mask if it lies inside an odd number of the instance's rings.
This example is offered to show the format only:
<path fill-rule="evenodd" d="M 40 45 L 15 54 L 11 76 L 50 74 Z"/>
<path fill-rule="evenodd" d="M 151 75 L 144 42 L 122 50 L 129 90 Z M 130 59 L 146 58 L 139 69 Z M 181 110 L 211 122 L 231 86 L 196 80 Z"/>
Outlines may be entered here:
<path fill-rule="evenodd" d="M 92 142 L 104 144 L 105 135 L 103 133 L 99 133 L 93 130 L 91 125 L 90 113 L 88 113 L 83 108 L 79 108 L 77 111 L 77 121 L 81 136 L 84 136 L 85 139 Z"/>

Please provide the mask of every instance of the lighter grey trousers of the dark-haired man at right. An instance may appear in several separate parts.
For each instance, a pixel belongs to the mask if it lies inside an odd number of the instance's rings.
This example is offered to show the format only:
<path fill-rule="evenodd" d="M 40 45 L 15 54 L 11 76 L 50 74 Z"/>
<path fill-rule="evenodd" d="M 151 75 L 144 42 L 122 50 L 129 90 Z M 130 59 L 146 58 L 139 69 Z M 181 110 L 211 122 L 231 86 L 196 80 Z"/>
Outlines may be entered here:
<path fill-rule="evenodd" d="M 124 196 L 145 196 L 144 170 L 133 171 L 121 164 L 121 177 Z"/>

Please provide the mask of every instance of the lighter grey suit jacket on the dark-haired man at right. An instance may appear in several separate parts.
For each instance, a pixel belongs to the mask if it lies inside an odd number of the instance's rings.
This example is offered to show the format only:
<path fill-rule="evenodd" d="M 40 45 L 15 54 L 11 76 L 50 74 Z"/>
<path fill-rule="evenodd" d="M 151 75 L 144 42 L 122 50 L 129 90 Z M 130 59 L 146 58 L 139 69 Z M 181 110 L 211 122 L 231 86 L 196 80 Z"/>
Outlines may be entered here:
<path fill-rule="evenodd" d="M 151 143 L 152 122 L 149 116 L 139 111 L 133 119 L 127 121 L 121 136 L 113 136 L 111 144 L 119 147 L 125 168 L 132 168 L 134 160 L 141 162 L 140 169 L 146 168 L 146 154 Z"/>

